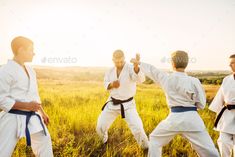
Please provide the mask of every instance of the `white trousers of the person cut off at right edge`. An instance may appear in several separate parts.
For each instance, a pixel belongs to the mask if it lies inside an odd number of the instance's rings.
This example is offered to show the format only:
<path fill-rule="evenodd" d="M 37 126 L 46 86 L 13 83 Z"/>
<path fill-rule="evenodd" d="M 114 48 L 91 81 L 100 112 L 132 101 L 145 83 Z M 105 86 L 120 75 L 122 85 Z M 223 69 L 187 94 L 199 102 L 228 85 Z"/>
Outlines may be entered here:
<path fill-rule="evenodd" d="M 235 134 L 220 132 L 217 142 L 221 157 L 235 157 Z"/>

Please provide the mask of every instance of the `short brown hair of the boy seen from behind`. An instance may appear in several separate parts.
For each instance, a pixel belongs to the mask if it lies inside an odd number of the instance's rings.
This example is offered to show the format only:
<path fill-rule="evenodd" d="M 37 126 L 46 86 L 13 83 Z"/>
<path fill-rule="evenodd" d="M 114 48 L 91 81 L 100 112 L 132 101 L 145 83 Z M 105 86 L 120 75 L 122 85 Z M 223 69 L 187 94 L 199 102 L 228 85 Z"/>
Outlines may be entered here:
<path fill-rule="evenodd" d="M 175 65 L 175 68 L 186 68 L 188 65 L 188 53 L 185 51 L 175 51 L 171 54 L 171 60 Z"/>

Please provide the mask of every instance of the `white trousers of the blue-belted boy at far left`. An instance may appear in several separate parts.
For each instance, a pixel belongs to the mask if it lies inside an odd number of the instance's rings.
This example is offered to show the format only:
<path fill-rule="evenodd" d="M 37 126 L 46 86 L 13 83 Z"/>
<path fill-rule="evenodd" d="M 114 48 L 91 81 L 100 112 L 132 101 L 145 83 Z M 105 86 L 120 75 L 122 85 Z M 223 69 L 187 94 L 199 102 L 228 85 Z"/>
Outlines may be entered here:
<path fill-rule="evenodd" d="M 0 128 L 0 157 L 11 157 L 19 140 L 16 119 L 8 119 L 7 124 Z M 46 131 L 47 136 L 43 131 L 31 135 L 31 147 L 36 157 L 53 157 L 51 137 L 47 128 Z"/>

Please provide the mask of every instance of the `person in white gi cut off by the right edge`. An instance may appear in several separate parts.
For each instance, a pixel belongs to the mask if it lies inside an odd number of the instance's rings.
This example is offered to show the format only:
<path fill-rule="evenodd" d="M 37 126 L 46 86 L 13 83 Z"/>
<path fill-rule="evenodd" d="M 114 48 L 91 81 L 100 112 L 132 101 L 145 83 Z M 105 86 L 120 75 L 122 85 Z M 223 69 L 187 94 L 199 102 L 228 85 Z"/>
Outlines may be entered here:
<path fill-rule="evenodd" d="M 233 74 L 223 79 L 209 109 L 217 113 L 215 130 L 220 132 L 218 146 L 222 157 L 235 157 L 235 54 L 229 57 Z"/>

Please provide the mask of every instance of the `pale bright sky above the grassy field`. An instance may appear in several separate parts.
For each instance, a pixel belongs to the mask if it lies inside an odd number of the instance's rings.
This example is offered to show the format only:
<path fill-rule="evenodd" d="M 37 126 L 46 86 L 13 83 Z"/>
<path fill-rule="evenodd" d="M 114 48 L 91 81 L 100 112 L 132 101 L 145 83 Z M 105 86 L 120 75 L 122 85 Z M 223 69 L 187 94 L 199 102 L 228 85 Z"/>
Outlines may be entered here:
<path fill-rule="evenodd" d="M 229 70 L 235 53 L 234 0 L 0 0 L 0 64 L 12 58 L 16 36 L 34 41 L 33 65 L 112 66 L 126 61 L 170 68 L 184 50 L 189 69 Z"/>

